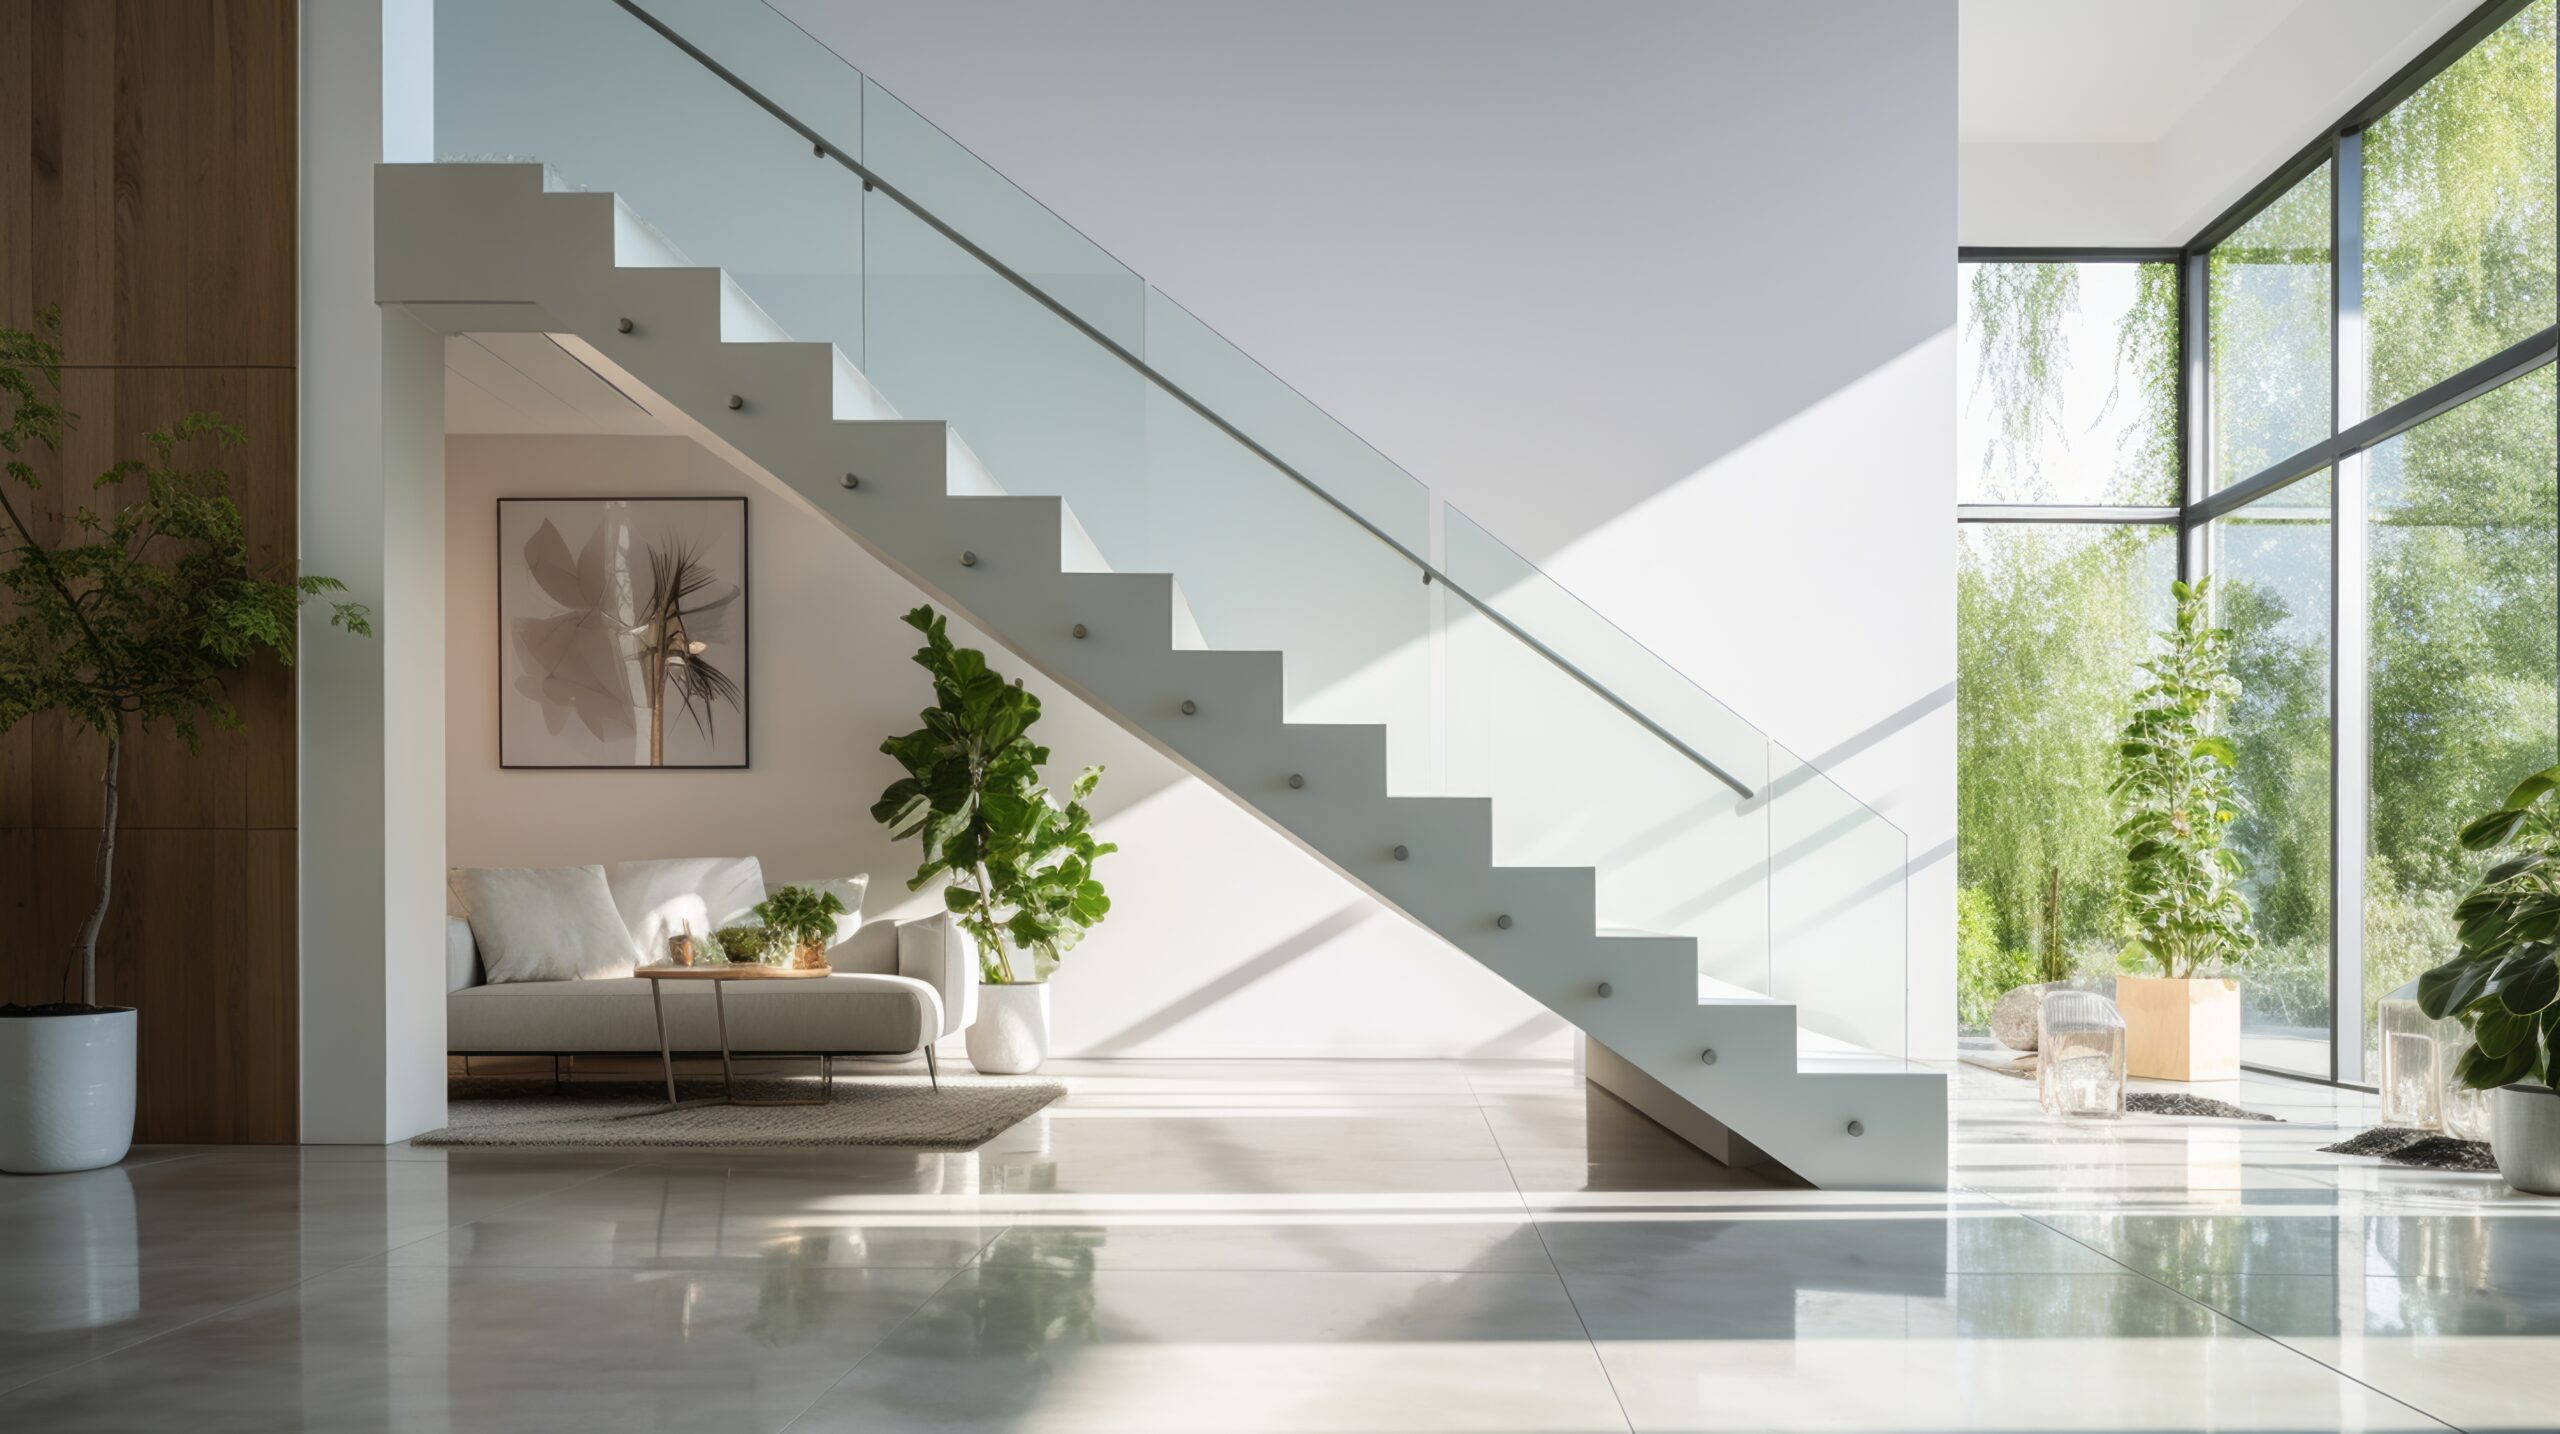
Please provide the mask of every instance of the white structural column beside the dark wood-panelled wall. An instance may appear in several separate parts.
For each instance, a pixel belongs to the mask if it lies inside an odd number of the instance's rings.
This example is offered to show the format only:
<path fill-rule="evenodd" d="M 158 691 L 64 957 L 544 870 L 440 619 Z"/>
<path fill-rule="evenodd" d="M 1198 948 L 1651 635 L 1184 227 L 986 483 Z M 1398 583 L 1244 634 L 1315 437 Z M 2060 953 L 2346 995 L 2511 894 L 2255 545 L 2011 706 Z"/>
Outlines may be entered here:
<path fill-rule="evenodd" d="M 374 305 L 374 166 L 433 154 L 433 0 L 302 8 L 302 1140 L 435 1129 L 443 1093 L 443 338 Z"/>

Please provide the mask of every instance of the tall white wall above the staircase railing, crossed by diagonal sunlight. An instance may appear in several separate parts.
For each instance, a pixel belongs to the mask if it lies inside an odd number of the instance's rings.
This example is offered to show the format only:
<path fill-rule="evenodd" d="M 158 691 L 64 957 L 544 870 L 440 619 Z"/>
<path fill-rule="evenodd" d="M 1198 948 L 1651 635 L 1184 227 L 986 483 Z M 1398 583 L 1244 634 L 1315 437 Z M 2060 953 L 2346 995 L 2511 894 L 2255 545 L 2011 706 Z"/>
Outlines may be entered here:
<path fill-rule="evenodd" d="M 1900 822 L 1951 1045 L 1951 0 L 778 3 Z"/>

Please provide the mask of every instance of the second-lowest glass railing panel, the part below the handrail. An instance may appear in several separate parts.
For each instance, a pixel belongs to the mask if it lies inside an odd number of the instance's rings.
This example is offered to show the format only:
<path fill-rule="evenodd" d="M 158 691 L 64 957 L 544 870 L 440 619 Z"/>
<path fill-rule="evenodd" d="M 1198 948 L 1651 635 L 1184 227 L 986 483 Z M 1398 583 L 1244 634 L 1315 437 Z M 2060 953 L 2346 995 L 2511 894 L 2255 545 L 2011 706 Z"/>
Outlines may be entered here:
<path fill-rule="evenodd" d="M 1700 976 L 1769 994 L 1766 802 L 1485 612 L 1441 602 L 1446 786 L 1492 799 L 1492 860 L 1590 866 L 1605 930 L 1695 937 Z M 1725 758 L 1746 789 L 1766 784 L 1761 755 L 1728 748 Z"/>

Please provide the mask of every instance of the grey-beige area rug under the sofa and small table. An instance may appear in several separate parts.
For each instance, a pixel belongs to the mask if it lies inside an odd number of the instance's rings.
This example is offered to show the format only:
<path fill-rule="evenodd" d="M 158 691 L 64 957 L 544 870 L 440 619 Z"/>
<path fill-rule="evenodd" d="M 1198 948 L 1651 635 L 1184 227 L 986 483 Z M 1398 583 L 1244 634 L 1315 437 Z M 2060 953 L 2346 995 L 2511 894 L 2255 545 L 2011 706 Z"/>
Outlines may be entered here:
<path fill-rule="evenodd" d="M 809 1099 L 817 1076 L 745 1078 L 745 1099 Z M 934 1091 L 922 1076 L 837 1076 L 824 1106 L 717 1104 L 719 1081 L 676 1081 L 678 1109 L 666 1109 L 655 1081 L 468 1078 L 448 1083 L 445 1119 L 412 1145 L 599 1145 L 599 1147 L 799 1147 L 896 1145 L 904 1150 L 975 1150 L 1065 1096 L 1057 1081 L 945 1076 Z"/>

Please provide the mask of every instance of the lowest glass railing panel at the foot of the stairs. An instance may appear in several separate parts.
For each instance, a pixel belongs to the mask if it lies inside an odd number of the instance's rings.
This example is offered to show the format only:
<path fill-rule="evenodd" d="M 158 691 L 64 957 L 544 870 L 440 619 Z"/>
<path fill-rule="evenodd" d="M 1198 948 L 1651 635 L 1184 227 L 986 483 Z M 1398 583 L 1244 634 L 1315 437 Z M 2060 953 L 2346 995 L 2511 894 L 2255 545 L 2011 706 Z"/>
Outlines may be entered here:
<path fill-rule="evenodd" d="M 1910 1050 L 1907 866 L 1902 830 L 1812 763 L 1769 745 L 1769 994 L 1815 1037 Z M 1823 1055 L 1807 1040 L 1805 1055 Z"/>

